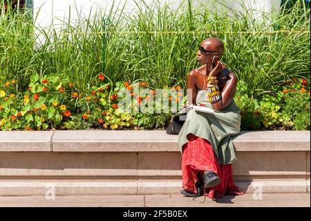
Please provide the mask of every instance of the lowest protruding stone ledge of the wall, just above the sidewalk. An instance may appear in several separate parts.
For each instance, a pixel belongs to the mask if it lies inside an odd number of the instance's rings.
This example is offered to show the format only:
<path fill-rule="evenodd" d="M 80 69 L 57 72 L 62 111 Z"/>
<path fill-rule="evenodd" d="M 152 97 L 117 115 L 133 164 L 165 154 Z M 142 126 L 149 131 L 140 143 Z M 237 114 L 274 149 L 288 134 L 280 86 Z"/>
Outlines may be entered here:
<path fill-rule="evenodd" d="M 245 193 L 306 193 L 305 180 L 236 182 Z M 154 195 L 178 194 L 176 180 L 0 180 L 0 195 Z"/>

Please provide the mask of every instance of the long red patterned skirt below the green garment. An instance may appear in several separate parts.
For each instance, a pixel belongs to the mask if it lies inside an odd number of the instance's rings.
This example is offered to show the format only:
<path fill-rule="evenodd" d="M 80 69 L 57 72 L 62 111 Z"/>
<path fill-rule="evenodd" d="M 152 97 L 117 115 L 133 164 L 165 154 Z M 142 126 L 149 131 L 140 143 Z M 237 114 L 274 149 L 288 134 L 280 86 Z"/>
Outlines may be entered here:
<path fill-rule="evenodd" d="M 238 191 L 232 179 L 232 164 L 218 164 L 216 155 L 209 141 L 194 134 L 189 134 L 189 141 L 182 151 L 182 188 L 196 192 L 195 183 L 198 182 L 198 173 L 210 170 L 220 178 L 220 184 L 213 188 L 206 188 L 205 195 L 209 198 L 219 199 L 224 195 L 243 195 Z"/>

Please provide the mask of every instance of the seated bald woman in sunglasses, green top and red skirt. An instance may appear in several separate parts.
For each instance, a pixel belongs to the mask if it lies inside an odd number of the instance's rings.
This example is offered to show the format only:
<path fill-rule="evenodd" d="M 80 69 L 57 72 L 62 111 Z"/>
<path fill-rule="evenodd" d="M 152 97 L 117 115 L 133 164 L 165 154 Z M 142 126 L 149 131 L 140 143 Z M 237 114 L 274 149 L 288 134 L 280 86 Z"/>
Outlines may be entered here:
<path fill-rule="evenodd" d="M 237 78 L 220 62 L 224 46 L 218 38 L 200 44 L 198 61 L 187 79 L 189 103 L 205 105 L 214 114 L 191 109 L 178 134 L 182 152 L 182 188 L 189 197 L 205 195 L 217 199 L 225 194 L 241 195 L 232 179 L 236 160 L 231 135 L 240 132 L 240 109 L 234 102 Z M 189 90 L 188 90 L 189 91 Z"/>

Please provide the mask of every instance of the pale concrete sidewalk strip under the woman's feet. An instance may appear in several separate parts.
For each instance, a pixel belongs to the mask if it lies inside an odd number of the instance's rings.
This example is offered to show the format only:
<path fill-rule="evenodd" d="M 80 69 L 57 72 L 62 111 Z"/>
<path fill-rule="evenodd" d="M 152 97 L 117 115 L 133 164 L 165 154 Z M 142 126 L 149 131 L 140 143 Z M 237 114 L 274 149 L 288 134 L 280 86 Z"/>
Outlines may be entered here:
<path fill-rule="evenodd" d="M 46 200 L 44 196 L 0 197 L 0 206 L 103 206 L 103 207 L 310 207 L 310 193 L 263 194 L 262 200 L 254 200 L 258 195 L 225 196 L 221 200 L 211 200 L 182 195 L 68 195 Z"/>

